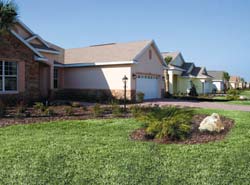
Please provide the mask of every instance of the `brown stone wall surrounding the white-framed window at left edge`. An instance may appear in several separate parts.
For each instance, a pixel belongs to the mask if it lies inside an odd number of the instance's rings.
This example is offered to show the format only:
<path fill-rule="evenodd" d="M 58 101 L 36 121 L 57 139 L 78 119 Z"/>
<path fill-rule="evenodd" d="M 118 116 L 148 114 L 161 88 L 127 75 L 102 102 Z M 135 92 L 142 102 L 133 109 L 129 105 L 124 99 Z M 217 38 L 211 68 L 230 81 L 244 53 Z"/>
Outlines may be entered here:
<path fill-rule="evenodd" d="M 12 35 L 0 38 L 0 40 L 3 41 L 0 43 L 0 60 L 18 63 L 18 92 L 10 96 L 38 99 L 40 97 L 39 63 L 34 61 L 33 52 Z M 7 95 L 0 94 L 0 96 L 6 97 Z"/>

